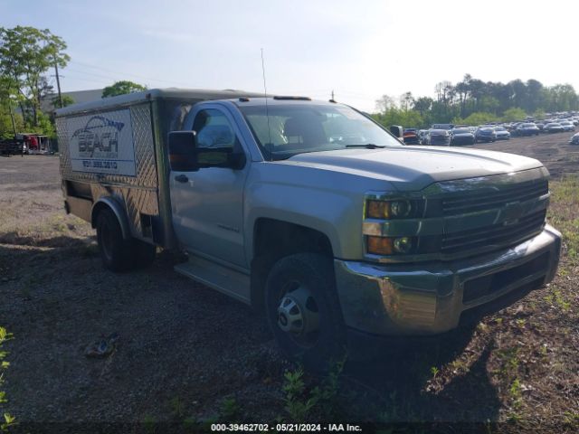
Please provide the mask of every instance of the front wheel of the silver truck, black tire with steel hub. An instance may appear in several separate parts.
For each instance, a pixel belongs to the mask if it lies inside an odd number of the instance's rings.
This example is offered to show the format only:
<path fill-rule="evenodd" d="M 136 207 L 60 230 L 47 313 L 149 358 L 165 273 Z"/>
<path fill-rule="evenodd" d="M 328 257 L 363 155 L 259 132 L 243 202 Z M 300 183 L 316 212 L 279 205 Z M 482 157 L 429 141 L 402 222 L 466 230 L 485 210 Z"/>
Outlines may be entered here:
<path fill-rule="evenodd" d="M 280 259 L 265 286 L 271 330 L 289 359 L 326 371 L 346 349 L 332 259 L 299 253 Z"/>

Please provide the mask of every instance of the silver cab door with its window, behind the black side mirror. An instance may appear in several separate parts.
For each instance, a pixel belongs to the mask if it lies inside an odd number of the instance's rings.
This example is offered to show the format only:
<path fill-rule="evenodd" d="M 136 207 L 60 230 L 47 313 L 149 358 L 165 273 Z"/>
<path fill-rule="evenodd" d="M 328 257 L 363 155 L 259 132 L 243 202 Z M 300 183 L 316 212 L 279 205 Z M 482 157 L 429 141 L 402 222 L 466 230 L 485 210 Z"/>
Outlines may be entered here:
<path fill-rule="evenodd" d="M 196 133 L 197 149 L 231 149 L 245 156 L 242 166 L 204 161 L 196 171 L 170 172 L 173 226 L 185 250 L 247 268 L 243 240 L 243 187 L 250 166 L 239 128 L 227 108 L 199 105 L 185 120 Z"/>

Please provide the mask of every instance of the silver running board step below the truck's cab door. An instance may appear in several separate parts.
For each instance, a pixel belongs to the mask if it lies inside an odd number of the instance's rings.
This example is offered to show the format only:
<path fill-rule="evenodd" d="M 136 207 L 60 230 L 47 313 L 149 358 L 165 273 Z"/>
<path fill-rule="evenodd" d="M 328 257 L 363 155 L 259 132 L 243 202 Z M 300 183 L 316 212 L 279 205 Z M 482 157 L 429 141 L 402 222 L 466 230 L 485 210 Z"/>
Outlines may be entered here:
<path fill-rule="evenodd" d="M 203 283 L 246 304 L 251 304 L 250 276 L 198 256 L 174 267 L 177 273 Z"/>

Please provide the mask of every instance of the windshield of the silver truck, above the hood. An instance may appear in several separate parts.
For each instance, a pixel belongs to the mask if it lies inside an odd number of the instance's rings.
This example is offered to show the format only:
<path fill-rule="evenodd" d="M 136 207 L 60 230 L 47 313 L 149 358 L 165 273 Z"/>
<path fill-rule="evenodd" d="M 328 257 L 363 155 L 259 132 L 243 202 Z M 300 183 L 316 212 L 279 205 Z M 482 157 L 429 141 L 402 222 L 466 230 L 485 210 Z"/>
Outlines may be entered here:
<path fill-rule="evenodd" d="M 269 117 L 265 105 L 239 109 L 261 152 L 274 160 L 349 146 L 403 146 L 375 122 L 346 106 L 273 104 Z"/>

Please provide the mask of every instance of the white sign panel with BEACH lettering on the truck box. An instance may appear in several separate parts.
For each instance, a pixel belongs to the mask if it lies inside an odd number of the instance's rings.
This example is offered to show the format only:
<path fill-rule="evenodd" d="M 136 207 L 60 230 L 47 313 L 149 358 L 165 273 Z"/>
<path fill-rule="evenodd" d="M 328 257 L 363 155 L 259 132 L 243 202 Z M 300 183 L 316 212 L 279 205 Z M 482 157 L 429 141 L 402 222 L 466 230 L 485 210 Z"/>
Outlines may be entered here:
<path fill-rule="evenodd" d="M 137 175 L 130 110 L 66 119 L 72 170 Z"/>

